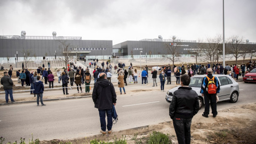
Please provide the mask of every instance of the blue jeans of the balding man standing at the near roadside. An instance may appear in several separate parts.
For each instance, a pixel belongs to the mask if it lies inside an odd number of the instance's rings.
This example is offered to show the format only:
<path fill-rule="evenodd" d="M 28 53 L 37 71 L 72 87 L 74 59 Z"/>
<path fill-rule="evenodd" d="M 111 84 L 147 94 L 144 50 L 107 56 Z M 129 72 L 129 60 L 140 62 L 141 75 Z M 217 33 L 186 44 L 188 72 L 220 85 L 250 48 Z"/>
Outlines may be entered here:
<path fill-rule="evenodd" d="M 106 131 L 106 114 L 108 119 L 108 131 L 112 129 L 113 121 L 112 121 L 112 109 L 99 109 L 100 115 L 100 127 L 102 131 Z"/>

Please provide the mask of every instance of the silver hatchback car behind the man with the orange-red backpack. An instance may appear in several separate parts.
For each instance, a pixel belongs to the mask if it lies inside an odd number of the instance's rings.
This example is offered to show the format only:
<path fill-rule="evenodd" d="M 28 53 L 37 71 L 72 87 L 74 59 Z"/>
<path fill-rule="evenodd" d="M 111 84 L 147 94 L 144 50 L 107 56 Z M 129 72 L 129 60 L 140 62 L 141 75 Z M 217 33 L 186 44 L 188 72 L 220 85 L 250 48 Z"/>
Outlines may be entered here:
<path fill-rule="evenodd" d="M 204 104 L 204 97 L 202 97 L 201 86 L 203 78 L 206 75 L 198 75 L 193 76 L 190 79 L 189 86 L 192 90 L 196 91 L 198 94 L 199 100 L 199 109 L 201 109 L 202 105 Z M 228 75 L 213 75 L 218 78 L 220 83 L 220 93 L 218 93 L 219 101 L 229 100 L 229 102 L 237 102 L 238 95 L 239 95 L 239 85 L 238 83 Z M 178 90 L 180 86 L 174 87 L 173 89 L 167 91 L 165 95 L 165 100 L 169 103 L 172 101 L 173 92 Z"/>

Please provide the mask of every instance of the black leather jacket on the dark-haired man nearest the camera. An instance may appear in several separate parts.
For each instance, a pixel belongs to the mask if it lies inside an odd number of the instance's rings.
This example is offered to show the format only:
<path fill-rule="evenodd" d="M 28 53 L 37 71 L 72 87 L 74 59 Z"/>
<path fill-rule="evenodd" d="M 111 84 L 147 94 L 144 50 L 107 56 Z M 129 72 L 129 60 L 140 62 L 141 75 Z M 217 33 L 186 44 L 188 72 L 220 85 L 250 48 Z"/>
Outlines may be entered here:
<path fill-rule="evenodd" d="M 171 119 L 192 118 L 199 110 L 197 93 L 191 87 L 181 86 L 173 93 L 169 108 Z"/>

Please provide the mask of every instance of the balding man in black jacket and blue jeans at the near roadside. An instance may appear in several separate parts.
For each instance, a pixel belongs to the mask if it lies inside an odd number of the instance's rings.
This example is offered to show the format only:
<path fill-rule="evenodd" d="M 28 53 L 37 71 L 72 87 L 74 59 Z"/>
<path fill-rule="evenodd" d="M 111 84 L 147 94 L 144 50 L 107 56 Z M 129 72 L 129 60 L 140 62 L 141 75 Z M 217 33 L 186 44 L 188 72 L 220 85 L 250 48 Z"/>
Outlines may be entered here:
<path fill-rule="evenodd" d="M 95 73 L 95 72 L 94 72 Z M 107 80 L 105 73 L 100 74 L 100 81 L 94 84 L 92 92 L 94 107 L 98 108 L 102 134 L 106 134 L 106 114 L 108 119 L 108 133 L 112 132 L 112 108 L 116 105 L 116 92 L 112 83 Z"/>

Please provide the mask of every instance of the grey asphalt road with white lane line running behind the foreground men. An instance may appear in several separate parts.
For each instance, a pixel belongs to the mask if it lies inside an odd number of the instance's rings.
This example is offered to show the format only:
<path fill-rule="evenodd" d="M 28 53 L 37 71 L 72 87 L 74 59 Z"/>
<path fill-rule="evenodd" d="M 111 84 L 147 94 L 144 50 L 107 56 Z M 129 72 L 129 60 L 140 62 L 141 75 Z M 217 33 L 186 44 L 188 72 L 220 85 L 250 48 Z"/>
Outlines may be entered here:
<path fill-rule="evenodd" d="M 239 82 L 239 89 L 237 103 L 218 102 L 218 110 L 256 102 L 255 84 Z M 47 106 L 37 107 L 36 103 L 0 106 L 0 136 L 6 139 L 5 142 L 14 142 L 21 137 L 31 139 L 31 133 L 39 140 L 100 134 L 99 112 L 91 98 L 48 101 L 45 104 Z M 158 89 L 118 94 L 116 110 L 119 121 L 113 125 L 113 131 L 171 121 L 165 92 Z M 202 113 L 203 109 L 198 115 Z"/>

